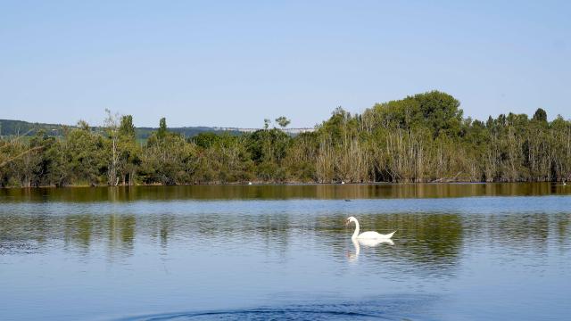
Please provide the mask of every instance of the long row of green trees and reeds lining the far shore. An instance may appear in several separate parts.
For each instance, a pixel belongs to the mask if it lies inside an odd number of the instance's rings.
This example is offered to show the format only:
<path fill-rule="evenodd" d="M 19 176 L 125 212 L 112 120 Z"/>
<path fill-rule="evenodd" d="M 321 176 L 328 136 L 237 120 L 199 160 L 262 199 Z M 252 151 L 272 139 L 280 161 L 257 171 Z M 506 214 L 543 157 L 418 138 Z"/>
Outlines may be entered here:
<path fill-rule="evenodd" d="M 289 119 L 276 119 L 281 128 Z M 283 182 L 513 182 L 571 178 L 571 122 L 542 109 L 487 121 L 463 118 L 451 95 L 429 92 L 337 108 L 315 132 L 172 133 L 166 120 L 137 143 L 133 118 L 107 111 L 104 132 L 84 121 L 62 137 L 0 140 L 0 184 L 136 185 Z"/>

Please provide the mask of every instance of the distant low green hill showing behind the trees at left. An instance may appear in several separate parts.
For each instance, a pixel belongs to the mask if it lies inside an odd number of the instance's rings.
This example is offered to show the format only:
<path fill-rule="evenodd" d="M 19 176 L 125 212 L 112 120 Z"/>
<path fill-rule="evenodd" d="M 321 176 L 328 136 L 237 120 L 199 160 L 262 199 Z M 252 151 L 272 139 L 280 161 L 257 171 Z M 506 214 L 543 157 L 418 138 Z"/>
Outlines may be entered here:
<path fill-rule="evenodd" d="M 22 120 L 0 119 L 0 136 L 33 136 L 36 135 L 38 130 L 45 130 L 49 136 L 62 136 L 65 128 L 76 128 L 75 126 L 62 125 L 62 124 L 45 124 L 45 123 L 32 123 Z M 95 127 L 95 130 L 101 130 Z M 136 128 L 137 139 L 146 139 L 157 128 Z M 180 133 L 186 137 L 196 136 L 200 133 L 222 133 L 227 132 L 231 135 L 239 135 L 242 133 L 237 128 L 211 128 L 211 127 L 182 127 L 182 128 L 169 128 L 169 131 Z"/>

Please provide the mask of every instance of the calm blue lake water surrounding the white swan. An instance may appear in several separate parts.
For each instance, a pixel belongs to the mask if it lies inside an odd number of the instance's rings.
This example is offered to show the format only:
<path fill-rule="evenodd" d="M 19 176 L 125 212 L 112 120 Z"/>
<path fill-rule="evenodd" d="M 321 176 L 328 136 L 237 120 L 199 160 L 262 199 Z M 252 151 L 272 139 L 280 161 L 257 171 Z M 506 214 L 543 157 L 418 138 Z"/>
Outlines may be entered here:
<path fill-rule="evenodd" d="M 2 320 L 570 316 L 570 185 L 0 190 Z"/>

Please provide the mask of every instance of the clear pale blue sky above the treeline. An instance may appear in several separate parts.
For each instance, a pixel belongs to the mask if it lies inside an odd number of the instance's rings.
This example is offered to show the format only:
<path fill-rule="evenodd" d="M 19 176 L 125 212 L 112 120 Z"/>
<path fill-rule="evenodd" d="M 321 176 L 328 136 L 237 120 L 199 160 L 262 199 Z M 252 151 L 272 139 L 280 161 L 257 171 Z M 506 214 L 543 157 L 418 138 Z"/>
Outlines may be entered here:
<path fill-rule="evenodd" d="M 312 127 L 433 89 L 568 119 L 569 3 L 0 0 L 0 119 Z"/>

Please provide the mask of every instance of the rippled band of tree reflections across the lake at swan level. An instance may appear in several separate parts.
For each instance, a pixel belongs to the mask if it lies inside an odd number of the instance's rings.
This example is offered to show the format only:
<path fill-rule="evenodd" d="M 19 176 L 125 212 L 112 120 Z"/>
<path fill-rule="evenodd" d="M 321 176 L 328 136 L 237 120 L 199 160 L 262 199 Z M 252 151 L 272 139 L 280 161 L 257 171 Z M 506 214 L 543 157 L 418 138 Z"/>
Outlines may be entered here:
<path fill-rule="evenodd" d="M 22 244 L 37 244 L 41 248 L 51 245 L 53 240 L 62 240 L 66 251 L 82 253 L 103 243 L 107 253 L 115 257 L 132 254 L 136 237 L 145 243 L 158 242 L 163 249 L 168 249 L 173 238 L 180 238 L 180 242 L 190 245 L 199 242 L 197 246 L 219 242 L 218 246 L 237 248 L 249 243 L 283 258 L 292 245 L 293 235 L 297 235 L 303 242 L 330 246 L 335 250 L 333 255 L 343 259 L 347 246 L 352 246 L 349 238 L 353 228 L 345 229 L 344 218 L 345 214 L 311 216 L 286 210 L 260 215 L 3 214 L 0 242 L 4 249 Z M 441 274 L 453 272 L 463 251 L 488 244 L 511 251 L 545 252 L 551 238 L 563 245 L 559 246 L 562 251 L 569 251 L 569 214 L 397 213 L 358 215 L 358 218 L 362 231 L 398 230 L 393 247 L 369 249 L 366 253 Z"/>

